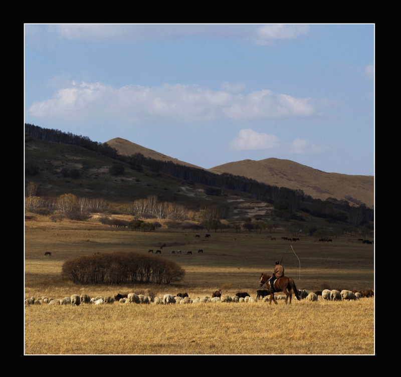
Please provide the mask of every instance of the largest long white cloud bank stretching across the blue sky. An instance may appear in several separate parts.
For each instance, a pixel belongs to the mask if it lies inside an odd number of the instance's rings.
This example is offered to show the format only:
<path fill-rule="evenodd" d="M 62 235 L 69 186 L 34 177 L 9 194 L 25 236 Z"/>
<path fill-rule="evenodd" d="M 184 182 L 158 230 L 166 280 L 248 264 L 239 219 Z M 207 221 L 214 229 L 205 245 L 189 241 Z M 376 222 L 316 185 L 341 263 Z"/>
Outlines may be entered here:
<path fill-rule="evenodd" d="M 164 84 L 159 87 L 127 85 L 113 88 L 102 83 L 75 83 L 57 90 L 51 99 L 29 108 L 38 117 L 87 117 L 102 114 L 117 120 L 152 119 L 265 119 L 305 117 L 315 113 L 307 98 L 261 90 L 232 93 L 232 87 L 213 91 L 197 85 Z M 237 88 L 238 89 L 238 88 Z"/>

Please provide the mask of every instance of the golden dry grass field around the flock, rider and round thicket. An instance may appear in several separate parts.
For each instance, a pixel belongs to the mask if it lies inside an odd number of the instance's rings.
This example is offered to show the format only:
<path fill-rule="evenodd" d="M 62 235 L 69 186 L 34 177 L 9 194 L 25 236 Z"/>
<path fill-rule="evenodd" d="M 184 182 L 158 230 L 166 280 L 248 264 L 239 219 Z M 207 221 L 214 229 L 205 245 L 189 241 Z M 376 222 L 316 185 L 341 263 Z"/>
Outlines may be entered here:
<path fill-rule="evenodd" d="M 289 243 L 281 237 L 290 235 L 280 231 L 209 232 L 209 239 L 205 233 L 131 232 L 98 222 L 52 223 L 36 216 L 25 224 L 25 297 L 187 292 L 195 298 L 211 296 L 219 288 L 230 296 L 248 292 L 256 297 L 261 273 L 270 273 L 274 261 L 282 258 L 298 289 L 374 289 L 373 246 L 358 243 L 356 236 L 332 243 L 301 236 Z M 64 261 L 74 256 L 147 254 L 162 244 L 166 247 L 157 258 L 174 260 L 185 269 L 177 284 L 77 286 L 61 277 Z M 47 251 L 51 257 L 44 256 Z M 319 297 L 309 302 L 293 297 L 291 305 L 282 300 L 278 305 L 27 305 L 24 345 L 25 354 L 374 354 L 374 299 L 325 302 Z"/>

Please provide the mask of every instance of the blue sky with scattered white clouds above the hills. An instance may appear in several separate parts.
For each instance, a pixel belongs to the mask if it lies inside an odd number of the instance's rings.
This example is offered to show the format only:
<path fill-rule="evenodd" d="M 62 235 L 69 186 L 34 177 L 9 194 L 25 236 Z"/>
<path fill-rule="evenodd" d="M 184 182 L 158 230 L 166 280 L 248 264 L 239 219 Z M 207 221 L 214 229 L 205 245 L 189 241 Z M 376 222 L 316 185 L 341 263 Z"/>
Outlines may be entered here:
<path fill-rule="evenodd" d="M 374 175 L 374 24 L 25 24 L 25 122 Z"/>

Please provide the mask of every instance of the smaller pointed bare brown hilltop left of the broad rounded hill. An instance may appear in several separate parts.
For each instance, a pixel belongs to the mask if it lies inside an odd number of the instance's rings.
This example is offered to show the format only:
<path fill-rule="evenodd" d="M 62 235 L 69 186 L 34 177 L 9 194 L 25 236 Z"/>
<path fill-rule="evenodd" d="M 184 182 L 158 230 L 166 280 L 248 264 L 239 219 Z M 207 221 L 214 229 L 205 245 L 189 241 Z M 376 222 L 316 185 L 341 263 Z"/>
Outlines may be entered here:
<path fill-rule="evenodd" d="M 173 162 L 173 163 L 177 163 L 179 165 L 196 167 L 197 169 L 203 169 L 203 167 L 192 165 L 191 163 L 180 161 L 177 158 L 166 156 L 165 154 L 156 152 L 153 149 L 145 148 L 144 146 L 141 146 L 139 144 L 135 144 L 135 143 L 133 143 L 133 142 L 131 142 L 129 140 L 126 140 L 126 139 L 122 139 L 121 137 L 115 137 L 114 139 L 106 141 L 106 143 L 108 145 L 110 145 L 112 148 L 116 149 L 118 154 L 121 154 L 121 155 L 124 155 L 124 156 L 130 156 L 130 155 L 135 154 L 135 153 L 141 153 L 145 157 L 153 158 L 155 160 L 170 161 L 170 162 Z"/>

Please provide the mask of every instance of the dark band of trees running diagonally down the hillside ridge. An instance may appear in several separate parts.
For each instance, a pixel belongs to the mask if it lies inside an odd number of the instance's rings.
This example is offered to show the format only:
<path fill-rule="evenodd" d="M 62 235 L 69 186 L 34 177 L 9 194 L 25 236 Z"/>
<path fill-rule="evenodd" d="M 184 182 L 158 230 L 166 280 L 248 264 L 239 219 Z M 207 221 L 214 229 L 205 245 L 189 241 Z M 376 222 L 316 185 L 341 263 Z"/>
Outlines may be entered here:
<path fill-rule="evenodd" d="M 324 201 L 313 199 L 305 195 L 302 190 L 291 190 L 287 187 L 278 187 L 258 182 L 255 179 L 232 174 L 215 174 L 203 169 L 175 164 L 170 161 L 155 160 L 145 157 L 141 153 L 131 156 L 120 155 L 117 150 L 107 143 L 99 143 L 90 140 L 87 136 L 74 135 L 70 132 L 62 132 L 57 129 L 42 128 L 33 124 L 25 124 L 26 135 L 32 138 L 57 143 L 71 144 L 86 148 L 93 152 L 100 153 L 113 158 L 120 163 L 128 164 L 132 169 L 141 171 L 142 166 L 147 166 L 152 172 L 169 174 L 175 178 L 208 186 L 206 194 L 220 196 L 225 190 L 249 194 L 253 199 L 274 205 L 277 214 L 288 217 L 292 220 L 302 218 L 296 215 L 297 210 L 310 213 L 312 216 L 340 221 L 359 227 L 367 222 L 372 222 L 374 211 L 364 204 L 351 206 L 346 200 L 328 198 Z M 26 174 L 34 175 L 35 169 Z M 118 174 L 118 171 L 116 172 Z M 313 210 L 306 208 L 305 203 L 312 204 Z"/>

